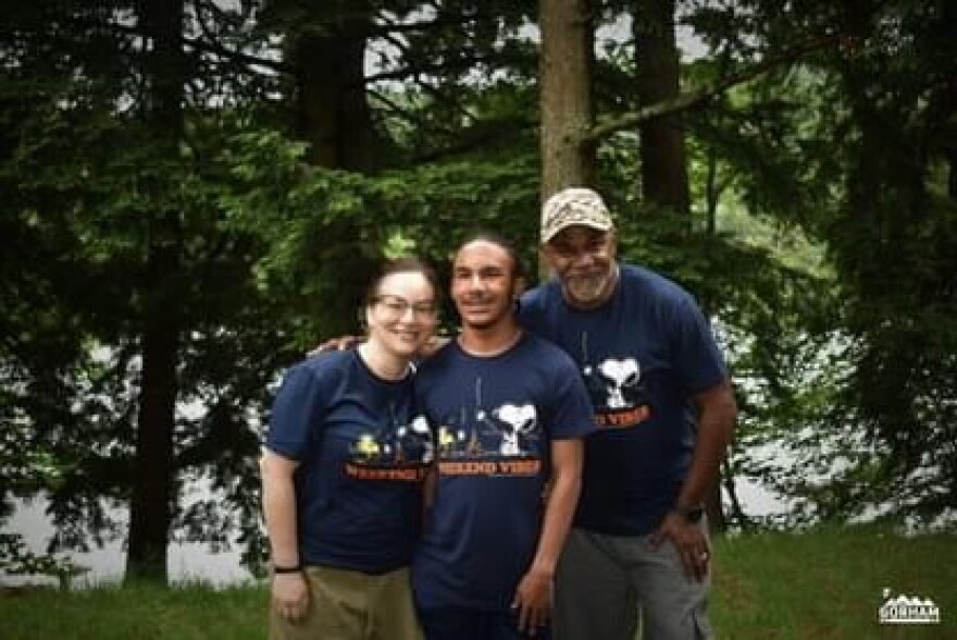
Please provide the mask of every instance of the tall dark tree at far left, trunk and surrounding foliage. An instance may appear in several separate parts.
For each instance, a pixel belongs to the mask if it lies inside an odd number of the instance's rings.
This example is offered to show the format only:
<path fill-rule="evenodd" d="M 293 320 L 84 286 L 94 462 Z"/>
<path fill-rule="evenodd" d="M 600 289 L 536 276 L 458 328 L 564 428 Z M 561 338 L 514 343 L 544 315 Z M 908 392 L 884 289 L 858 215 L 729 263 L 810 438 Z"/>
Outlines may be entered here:
<path fill-rule="evenodd" d="M 287 324 L 253 286 L 254 237 L 219 207 L 241 119 L 211 113 L 199 94 L 215 83 L 188 82 L 202 57 L 183 52 L 199 47 L 184 5 L 135 9 L 41 3 L 2 32 L 18 70 L 0 101 L 16 133 L 0 162 L 16 194 L 3 202 L 2 264 L 34 268 L 2 290 L 16 312 L 0 358 L 16 379 L 3 420 L 18 428 L 4 433 L 52 460 L 53 546 L 116 533 L 102 501 L 125 503 L 128 576 L 162 581 L 174 528 L 222 544 L 235 520 L 181 504 L 188 477 L 210 479 L 256 541 L 247 416 L 261 410 Z"/>

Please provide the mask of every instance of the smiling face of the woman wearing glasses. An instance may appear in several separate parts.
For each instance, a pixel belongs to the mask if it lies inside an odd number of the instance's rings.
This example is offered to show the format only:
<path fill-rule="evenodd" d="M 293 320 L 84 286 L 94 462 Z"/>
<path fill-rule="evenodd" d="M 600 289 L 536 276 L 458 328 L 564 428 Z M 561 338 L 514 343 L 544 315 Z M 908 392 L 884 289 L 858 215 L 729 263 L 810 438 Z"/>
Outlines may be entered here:
<path fill-rule="evenodd" d="M 382 278 L 365 305 L 369 342 L 398 357 L 414 356 L 435 331 L 436 294 L 432 282 L 419 271 Z"/>

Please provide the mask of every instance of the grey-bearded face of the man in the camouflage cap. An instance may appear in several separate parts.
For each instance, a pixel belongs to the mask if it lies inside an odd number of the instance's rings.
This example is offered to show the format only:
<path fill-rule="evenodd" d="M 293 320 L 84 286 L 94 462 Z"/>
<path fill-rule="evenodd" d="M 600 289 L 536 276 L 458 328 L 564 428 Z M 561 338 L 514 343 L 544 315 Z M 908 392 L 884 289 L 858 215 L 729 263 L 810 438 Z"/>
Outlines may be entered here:
<path fill-rule="evenodd" d="M 618 282 L 614 233 L 584 225 L 563 229 L 543 247 L 548 264 L 561 281 L 566 300 L 591 309 L 605 303 Z"/>

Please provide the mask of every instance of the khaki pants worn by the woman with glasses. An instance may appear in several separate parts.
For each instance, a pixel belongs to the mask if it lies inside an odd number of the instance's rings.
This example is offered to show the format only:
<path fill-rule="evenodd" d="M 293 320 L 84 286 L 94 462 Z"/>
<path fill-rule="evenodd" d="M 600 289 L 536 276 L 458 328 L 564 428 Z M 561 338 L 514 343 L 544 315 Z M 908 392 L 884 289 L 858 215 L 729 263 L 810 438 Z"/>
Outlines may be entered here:
<path fill-rule="evenodd" d="M 294 625 L 270 613 L 271 640 L 421 640 L 408 567 L 370 576 L 309 567 L 309 613 Z"/>

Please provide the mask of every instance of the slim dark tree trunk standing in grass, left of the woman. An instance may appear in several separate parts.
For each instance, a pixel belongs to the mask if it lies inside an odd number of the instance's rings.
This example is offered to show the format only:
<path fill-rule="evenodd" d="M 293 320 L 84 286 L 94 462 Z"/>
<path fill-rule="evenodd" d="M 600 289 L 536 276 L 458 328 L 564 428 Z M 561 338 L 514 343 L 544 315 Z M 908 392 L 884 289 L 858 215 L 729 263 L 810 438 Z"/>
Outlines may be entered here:
<path fill-rule="evenodd" d="M 152 49 L 146 54 L 147 124 L 171 157 L 183 132 L 184 60 L 179 39 L 183 3 L 149 0 L 142 24 Z M 154 188 L 163 188 L 162 184 Z M 158 194 L 156 201 L 166 198 Z M 142 373 L 129 504 L 126 579 L 166 582 L 166 545 L 173 505 L 173 433 L 179 300 L 176 295 L 178 212 L 156 211 L 149 221 L 142 330 Z"/>

